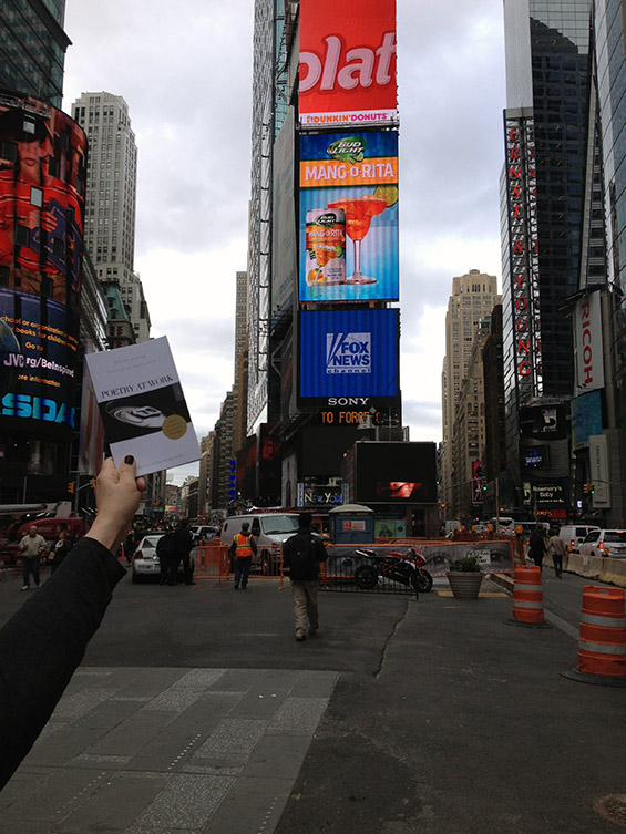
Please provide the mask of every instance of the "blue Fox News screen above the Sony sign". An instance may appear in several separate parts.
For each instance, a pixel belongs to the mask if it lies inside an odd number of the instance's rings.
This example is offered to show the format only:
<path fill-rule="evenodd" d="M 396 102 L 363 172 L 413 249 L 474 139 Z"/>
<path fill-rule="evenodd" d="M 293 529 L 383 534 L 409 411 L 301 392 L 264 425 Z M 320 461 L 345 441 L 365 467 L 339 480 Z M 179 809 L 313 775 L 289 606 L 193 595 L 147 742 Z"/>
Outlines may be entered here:
<path fill-rule="evenodd" d="M 300 312 L 300 400 L 396 398 L 398 310 Z"/>

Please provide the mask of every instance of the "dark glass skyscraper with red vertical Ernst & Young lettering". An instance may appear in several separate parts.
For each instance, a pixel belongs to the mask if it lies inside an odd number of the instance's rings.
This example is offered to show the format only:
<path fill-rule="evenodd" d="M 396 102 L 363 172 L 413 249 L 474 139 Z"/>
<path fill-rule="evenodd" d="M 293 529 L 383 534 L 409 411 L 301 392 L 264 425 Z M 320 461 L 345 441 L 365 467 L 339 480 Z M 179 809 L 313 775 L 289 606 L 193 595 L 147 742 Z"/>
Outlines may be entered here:
<path fill-rule="evenodd" d="M 526 477 L 520 469 L 520 415 L 542 403 L 556 410 L 553 416 L 564 415 L 574 388 L 572 321 L 563 307 L 587 268 L 582 254 L 594 126 L 587 109 L 591 7 L 591 0 L 504 0 L 502 292 L 509 466 L 501 495 L 510 507 L 525 503 L 528 509 L 553 513 L 565 513 L 569 503 L 561 424 L 566 418 L 555 428 L 563 447 L 553 450 L 545 471 Z M 540 482 L 545 501 L 537 498 Z"/>

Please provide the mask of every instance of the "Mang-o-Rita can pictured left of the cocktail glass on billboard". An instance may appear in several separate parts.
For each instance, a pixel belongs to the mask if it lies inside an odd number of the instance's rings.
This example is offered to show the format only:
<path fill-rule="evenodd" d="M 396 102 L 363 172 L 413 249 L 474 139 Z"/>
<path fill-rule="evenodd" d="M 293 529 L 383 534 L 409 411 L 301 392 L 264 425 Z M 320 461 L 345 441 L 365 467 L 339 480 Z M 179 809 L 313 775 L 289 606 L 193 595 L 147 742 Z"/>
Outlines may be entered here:
<path fill-rule="evenodd" d="M 346 212 L 314 208 L 307 212 L 307 285 L 346 284 Z"/>

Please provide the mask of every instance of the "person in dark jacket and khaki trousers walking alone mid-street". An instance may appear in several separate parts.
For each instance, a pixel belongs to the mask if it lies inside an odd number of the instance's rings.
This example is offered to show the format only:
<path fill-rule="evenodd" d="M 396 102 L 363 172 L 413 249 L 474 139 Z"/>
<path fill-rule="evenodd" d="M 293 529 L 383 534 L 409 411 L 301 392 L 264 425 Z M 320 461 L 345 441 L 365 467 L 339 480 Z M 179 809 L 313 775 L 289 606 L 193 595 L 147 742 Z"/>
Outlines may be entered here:
<path fill-rule="evenodd" d="M 291 594 L 294 595 L 294 620 L 296 640 L 306 639 L 307 620 L 309 635 L 319 629 L 317 593 L 319 589 L 319 563 L 326 562 L 328 554 L 324 542 L 311 533 L 311 516 L 300 513 L 298 532 L 283 545 L 283 564 L 289 568 Z"/>

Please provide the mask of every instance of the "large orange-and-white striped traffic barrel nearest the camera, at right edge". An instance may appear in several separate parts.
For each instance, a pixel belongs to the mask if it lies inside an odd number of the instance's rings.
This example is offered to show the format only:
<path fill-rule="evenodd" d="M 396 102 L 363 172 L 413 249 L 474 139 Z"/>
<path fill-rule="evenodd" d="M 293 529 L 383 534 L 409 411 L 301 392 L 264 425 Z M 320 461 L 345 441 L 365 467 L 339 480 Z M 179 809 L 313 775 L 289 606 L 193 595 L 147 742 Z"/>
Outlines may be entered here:
<path fill-rule="evenodd" d="M 585 585 L 578 663 L 563 675 L 586 683 L 626 686 L 626 611 L 622 588 Z"/>

